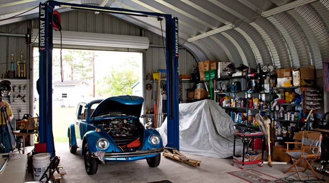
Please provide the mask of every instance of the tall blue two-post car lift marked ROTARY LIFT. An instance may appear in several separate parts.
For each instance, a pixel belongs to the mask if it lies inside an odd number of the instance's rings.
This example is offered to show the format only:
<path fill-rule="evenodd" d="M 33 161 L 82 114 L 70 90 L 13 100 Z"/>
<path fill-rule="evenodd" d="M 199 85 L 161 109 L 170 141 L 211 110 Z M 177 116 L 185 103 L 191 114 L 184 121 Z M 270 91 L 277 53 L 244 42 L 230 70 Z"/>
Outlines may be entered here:
<path fill-rule="evenodd" d="M 54 0 L 39 4 L 39 136 L 47 144 L 47 152 L 55 156 L 52 129 L 52 52 L 53 11 L 55 6 L 71 9 L 125 14 L 142 17 L 165 18 L 166 20 L 166 64 L 167 64 L 167 131 L 166 147 L 179 150 L 178 113 L 178 19 L 169 14 L 135 11 L 123 8 L 108 8 L 84 4 L 58 2 Z"/>

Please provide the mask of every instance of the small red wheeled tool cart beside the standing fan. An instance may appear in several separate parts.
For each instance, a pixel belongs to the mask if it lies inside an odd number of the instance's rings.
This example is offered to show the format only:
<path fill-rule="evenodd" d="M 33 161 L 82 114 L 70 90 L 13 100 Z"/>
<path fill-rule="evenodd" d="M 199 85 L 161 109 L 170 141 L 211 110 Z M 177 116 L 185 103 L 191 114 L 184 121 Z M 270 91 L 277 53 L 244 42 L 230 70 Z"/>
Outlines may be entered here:
<path fill-rule="evenodd" d="M 263 146 L 262 146 L 262 158 L 261 160 L 255 160 L 255 161 L 245 161 L 245 146 L 247 144 L 247 151 L 249 150 L 249 142 L 252 141 L 252 150 L 254 150 L 254 139 L 255 138 L 262 138 L 263 140 Z M 240 139 L 243 143 L 243 149 L 242 149 L 242 157 L 237 158 L 235 156 L 235 141 L 236 139 Z M 264 148 L 266 147 L 266 139 L 265 139 L 265 134 L 262 132 L 256 132 L 256 133 L 242 133 L 242 132 L 234 132 L 234 142 L 233 142 L 233 162 L 232 166 L 234 166 L 234 163 L 239 163 L 242 164 L 240 167 L 241 169 L 244 168 L 245 164 L 254 164 L 254 163 L 261 163 L 259 166 L 263 166 L 264 163 Z"/>

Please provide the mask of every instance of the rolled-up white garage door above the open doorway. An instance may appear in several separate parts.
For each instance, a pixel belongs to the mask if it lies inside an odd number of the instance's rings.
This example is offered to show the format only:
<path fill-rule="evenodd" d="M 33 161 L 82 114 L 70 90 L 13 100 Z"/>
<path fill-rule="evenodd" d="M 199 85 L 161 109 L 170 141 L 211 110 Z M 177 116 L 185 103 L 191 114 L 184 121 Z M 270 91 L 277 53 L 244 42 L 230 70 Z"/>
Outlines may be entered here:
<path fill-rule="evenodd" d="M 32 40 L 39 41 L 39 29 L 33 29 Z M 116 34 L 101 34 L 91 32 L 61 31 L 62 45 L 84 46 L 84 47 L 113 47 L 113 48 L 134 48 L 148 49 L 150 40 L 147 37 L 128 36 Z M 53 32 L 53 43 L 60 45 L 59 31 Z"/>

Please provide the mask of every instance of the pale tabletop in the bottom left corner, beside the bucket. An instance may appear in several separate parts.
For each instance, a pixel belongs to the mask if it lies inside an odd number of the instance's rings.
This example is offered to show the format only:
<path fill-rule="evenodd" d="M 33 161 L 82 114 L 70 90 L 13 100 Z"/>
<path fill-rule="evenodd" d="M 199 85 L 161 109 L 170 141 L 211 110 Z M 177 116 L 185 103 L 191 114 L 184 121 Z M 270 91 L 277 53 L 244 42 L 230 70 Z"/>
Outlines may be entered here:
<path fill-rule="evenodd" d="M 0 154 L 0 166 L 6 161 L 6 157 L 3 155 L 8 155 L 8 153 Z M 9 159 L 7 165 L 4 167 L 3 171 L 0 173 L 0 182 L 1 183 L 24 183 L 25 182 L 25 173 L 26 173 L 26 164 L 27 164 L 27 155 L 18 154 L 19 159 Z"/>

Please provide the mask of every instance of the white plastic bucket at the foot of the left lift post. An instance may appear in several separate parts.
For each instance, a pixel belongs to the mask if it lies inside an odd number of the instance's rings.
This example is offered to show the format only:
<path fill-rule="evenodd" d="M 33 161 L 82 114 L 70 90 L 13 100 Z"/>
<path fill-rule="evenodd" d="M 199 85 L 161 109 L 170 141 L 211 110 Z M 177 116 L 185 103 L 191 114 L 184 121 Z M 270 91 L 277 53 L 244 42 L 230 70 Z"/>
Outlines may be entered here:
<path fill-rule="evenodd" d="M 43 173 L 46 171 L 50 163 L 50 154 L 49 153 L 40 153 L 33 155 L 33 177 L 35 181 L 39 181 Z M 46 181 L 46 178 L 41 181 Z"/>

